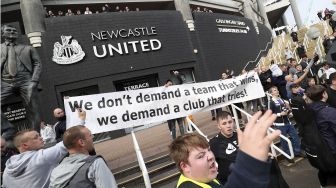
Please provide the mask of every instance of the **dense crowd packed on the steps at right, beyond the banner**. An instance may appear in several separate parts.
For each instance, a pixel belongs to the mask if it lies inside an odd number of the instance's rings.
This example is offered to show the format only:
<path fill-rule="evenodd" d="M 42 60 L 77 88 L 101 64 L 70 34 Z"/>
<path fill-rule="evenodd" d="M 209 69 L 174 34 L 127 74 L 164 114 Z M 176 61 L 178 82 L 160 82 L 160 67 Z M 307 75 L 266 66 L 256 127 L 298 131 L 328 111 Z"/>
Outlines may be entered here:
<path fill-rule="evenodd" d="M 335 35 L 335 32 L 333 35 Z M 298 42 L 298 44 L 300 43 Z M 304 50 L 302 54 L 300 61 L 297 62 L 294 59 L 293 52 L 286 49 L 286 63 L 280 65 L 272 64 L 270 67 L 261 66 L 260 68 L 259 77 L 261 83 L 264 90 L 268 91 L 272 96 L 270 107 L 273 113 L 277 115 L 274 126 L 281 130 L 283 135 L 290 136 L 294 154 L 295 156 L 300 156 L 302 148 L 306 153 L 309 149 L 305 145 L 300 146 L 300 140 L 307 134 L 304 130 L 314 122 L 311 126 L 317 126 L 322 142 L 325 142 L 326 148 L 328 148 L 320 151 L 318 156 L 330 153 L 333 155 L 331 160 L 334 160 L 336 164 L 335 65 L 321 62 L 317 54 L 311 59 L 308 59 Z M 307 118 L 306 109 L 311 110 L 313 116 Z M 294 116 L 294 120 L 290 118 L 291 116 Z M 296 123 L 295 127 L 298 128 L 298 131 L 294 128 L 293 122 Z M 281 140 L 281 145 L 288 153 L 288 148 L 283 140 Z M 289 162 L 293 161 L 289 160 Z M 312 164 L 314 166 L 316 163 L 312 162 Z M 335 185 L 336 165 L 332 171 L 328 172 L 323 171 L 321 166 L 314 166 L 319 169 L 318 177 L 321 185 Z"/>

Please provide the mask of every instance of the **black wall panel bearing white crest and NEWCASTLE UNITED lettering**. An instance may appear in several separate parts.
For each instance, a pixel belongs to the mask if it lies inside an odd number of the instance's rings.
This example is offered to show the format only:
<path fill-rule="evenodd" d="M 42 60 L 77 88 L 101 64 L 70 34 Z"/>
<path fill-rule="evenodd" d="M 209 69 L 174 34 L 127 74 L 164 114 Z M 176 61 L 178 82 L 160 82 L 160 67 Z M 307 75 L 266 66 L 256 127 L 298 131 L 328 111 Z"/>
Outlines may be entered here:
<path fill-rule="evenodd" d="M 46 19 L 46 27 L 44 74 L 51 84 L 195 61 L 177 11 L 63 16 Z"/>

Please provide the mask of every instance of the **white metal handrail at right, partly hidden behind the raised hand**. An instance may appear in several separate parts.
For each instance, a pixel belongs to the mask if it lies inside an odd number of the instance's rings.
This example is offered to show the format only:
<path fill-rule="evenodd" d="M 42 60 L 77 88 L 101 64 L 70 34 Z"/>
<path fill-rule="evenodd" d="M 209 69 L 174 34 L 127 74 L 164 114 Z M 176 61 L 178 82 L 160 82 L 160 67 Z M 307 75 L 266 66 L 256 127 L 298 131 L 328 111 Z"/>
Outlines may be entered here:
<path fill-rule="evenodd" d="M 231 107 L 232 107 L 232 111 L 233 111 L 233 114 L 234 114 L 234 118 L 236 120 L 236 126 L 239 127 L 239 122 L 238 122 L 238 116 L 237 116 L 237 111 L 236 110 L 239 110 L 241 113 L 245 114 L 247 116 L 247 118 L 251 118 L 252 115 L 250 115 L 249 113 L 247 113 L 246 111 L 244 111 L 243 109 L 237 107 L 236 105 L 234 104 L 231 104 Z M 268 132 L 271 133 L 271 132 L 274 132 L 275 130 L 271 127 L 268 128 Z M 277 150 L 278 152 L 280 152 L 282 155 L 284 155 L 286 158 L 288 159 L 293 159 L 294 158 L 294 151 L 293 151 L 293 146 L 292 146 L 292 142 L 284 135 L 280 134 L 280 137 L 282 139 L 284 139 L 287 143 L 288 143 L 288 148 L 289 148 L 289 153 L 290 155 L 288 155 L 286 152 L 284 152 L 283 150 L 281 150 L 278 146 L 276 146 L 274 144 L 274 142 L 272 142 L 271 144 L 271 151 L 272 151 L 272 154 L 274 156 L 276 156 L 276 153 L 275 153 L 275 150 Z M 274 153 L 273 153 L 274 152 Z"/>

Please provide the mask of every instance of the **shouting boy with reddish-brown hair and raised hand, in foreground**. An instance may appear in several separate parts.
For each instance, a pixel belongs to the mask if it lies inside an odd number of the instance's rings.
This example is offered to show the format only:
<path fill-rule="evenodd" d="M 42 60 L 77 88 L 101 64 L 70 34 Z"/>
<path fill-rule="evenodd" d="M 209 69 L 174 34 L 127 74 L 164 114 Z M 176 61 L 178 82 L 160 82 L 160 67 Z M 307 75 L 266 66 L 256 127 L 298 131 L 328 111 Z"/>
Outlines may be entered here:
<path fill-rule="evenodd" d="M 269 147 L 280 131 L 267 134 L 276 116 L 270 110 L 263 116 L 261 114 L 258 112 L 250 119 L 244 132 L 237 129 L 240 148 L 225 188 L 266 188 L 268 185 L 271 167 Z M 204 137 L 195 133 L 180 136 L 169 149 L 181 172 L 177 188 L 224 187 L 216 180 L 217 163 Z"/>

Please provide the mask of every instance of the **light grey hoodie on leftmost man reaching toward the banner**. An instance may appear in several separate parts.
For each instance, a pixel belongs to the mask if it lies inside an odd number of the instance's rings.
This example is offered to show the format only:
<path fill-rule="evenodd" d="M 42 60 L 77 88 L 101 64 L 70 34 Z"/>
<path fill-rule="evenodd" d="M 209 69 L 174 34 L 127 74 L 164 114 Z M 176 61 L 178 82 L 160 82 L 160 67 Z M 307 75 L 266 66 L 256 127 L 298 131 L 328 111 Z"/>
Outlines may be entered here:
<path fill-rule="evenodd" d="M 63 142 L 47 149 L 26 151 L 6 162 L 3 174 L 5 188 L 46 188 L 51 171 L 67 154 Z"/>

